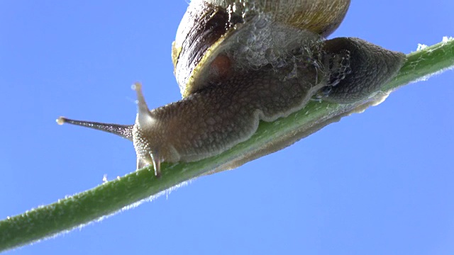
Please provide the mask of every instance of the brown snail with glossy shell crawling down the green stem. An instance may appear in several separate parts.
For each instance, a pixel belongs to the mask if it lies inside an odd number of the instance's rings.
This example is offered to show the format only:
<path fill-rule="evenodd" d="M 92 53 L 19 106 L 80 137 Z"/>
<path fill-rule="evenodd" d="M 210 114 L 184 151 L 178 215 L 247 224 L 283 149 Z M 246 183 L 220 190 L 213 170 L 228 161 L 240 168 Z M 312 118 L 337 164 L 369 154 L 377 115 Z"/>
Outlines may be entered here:
<path fill-rule="evenodd" d="M 405 56 L 359 38 L 325 40 L 349 6 L 350 0 L 192 0 L 172 44 L 180 101 L 150 110 L 136 83 L 134 125 L 63 117 L 57 123 L 131 140 L 137 169 L 153 164 L 160 176 L 161 162 L 220 154 L 248 140 L 260 120 L 286 117 L 313 98 L 360 101 L 392 79 Z"/>

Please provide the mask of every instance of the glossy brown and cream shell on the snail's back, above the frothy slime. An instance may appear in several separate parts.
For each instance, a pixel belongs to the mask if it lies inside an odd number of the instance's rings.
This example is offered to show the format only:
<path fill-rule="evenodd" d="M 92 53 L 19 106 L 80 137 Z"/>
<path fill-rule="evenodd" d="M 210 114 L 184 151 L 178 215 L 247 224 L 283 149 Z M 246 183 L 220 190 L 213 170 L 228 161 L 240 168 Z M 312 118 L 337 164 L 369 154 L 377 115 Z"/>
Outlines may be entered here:
<path fill-rule="evenodd" d="M 182 97 L 206 86 L 202 68 L 231 33 L 251 17 L 271 13 L 272 21 L 323 37 L 343 21 L 350 0 L 193 0 L 172 44 L 174 72 Z"/>

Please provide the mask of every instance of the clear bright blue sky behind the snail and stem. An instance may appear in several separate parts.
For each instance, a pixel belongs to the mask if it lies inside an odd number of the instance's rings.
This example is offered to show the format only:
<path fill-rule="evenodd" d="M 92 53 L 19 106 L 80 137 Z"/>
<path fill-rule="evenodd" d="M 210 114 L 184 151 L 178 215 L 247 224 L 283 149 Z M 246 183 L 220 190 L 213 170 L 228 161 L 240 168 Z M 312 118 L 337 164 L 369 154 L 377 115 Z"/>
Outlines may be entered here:
<path fill-rule="evenodd" d="M 0 1 L 0 218 L 135 169 L 131 142 L 55 118 L 133 123 L 177 101 L 187 2 Z M 454 3 L 353 1 L 335 34 L 405 53 L 454 36 Z M 454 254 L 454 72 L 296 145 L 8 254 Z"/>

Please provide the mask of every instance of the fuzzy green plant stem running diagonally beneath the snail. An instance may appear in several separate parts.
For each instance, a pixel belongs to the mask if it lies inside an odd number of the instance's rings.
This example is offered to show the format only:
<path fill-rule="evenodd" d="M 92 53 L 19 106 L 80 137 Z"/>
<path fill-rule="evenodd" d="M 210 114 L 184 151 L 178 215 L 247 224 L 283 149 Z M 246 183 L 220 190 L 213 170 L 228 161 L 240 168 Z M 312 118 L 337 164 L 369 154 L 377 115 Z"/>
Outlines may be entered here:
<path fill-rule="evenodd" d="M 385 86 L 383 94 L 411 81 L 453 67 L 454 40 L 438 43 L 425 50 L 410 53 L 406 57 L 406 64 L 397 77 Z M 250 140 L 216 157 L 187 164 L 162 164 L 160 179 L 155 178 L 153 169 L 140 169 L 89 191 L 29 210 L 21 215 L 8 217 L 0 221 L 0 251 L 36 242 L 99 220 L 135 203 L 153 198 L 169 188 L 178 186 L 179 183 L 209 174 L 216 169 L 225 169 L 226 166 L 232 165 L 231 162 L 236 162 L 235 165 L 243 164 L 255 159 L 254 156 L 244 159 L 243 155 L 253 155 L 277 137 L 292 134 L 297 136 L 294 140 L 297 141 L 345 115 L 367 108 L 379 100 L 380 95 L 372 96 L 369 101 L 351 105 L 314 101 L 287 118 L 281 118 L 273 123 L 260 123 L 258 132 Z M 278 145 L 275 149 L 285 146 L 287 145 Z"/>

